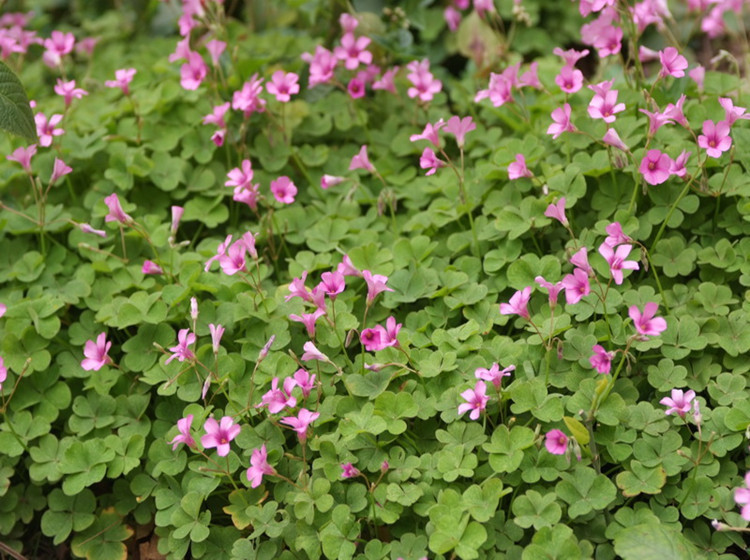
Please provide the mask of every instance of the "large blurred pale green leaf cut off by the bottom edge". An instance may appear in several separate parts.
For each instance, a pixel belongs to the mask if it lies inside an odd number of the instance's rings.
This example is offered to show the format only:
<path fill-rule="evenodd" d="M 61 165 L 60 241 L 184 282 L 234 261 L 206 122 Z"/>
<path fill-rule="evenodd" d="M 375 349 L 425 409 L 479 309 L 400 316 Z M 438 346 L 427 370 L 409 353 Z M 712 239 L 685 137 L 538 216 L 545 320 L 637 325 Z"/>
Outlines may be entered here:
<path fill-rule="evenodd" d="M 622 529 L 615 537 L 615 552 L 623 560 L 698 560 L 705 557 L 682 533 L 660 524 Z"/>

